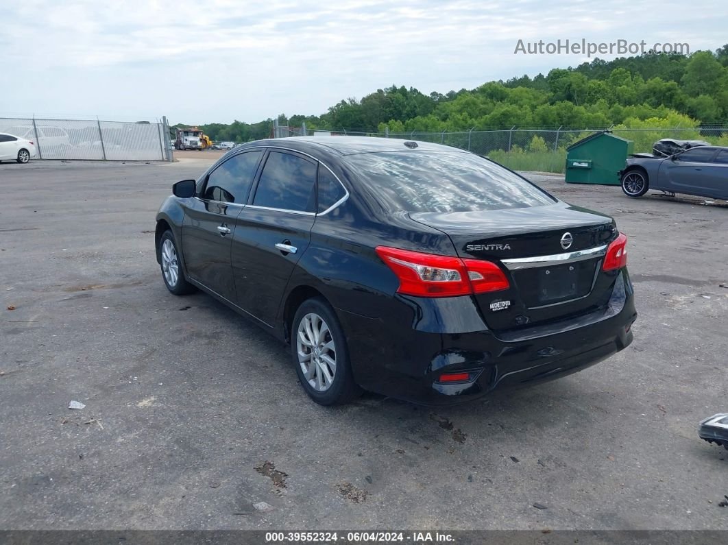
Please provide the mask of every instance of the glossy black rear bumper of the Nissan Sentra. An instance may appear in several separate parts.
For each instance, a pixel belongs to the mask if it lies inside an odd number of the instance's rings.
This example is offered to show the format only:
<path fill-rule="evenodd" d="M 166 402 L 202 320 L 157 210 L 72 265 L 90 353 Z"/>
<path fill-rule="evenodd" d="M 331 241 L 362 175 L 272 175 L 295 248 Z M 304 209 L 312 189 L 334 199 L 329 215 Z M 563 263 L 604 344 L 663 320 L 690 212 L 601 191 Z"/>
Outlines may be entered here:
<path fill-rule="evenodd" d="M 625 349 L 637 317 L 628 279 L 625 287 L 607 309 L 509 334 L 486 329 L 438 334 L 397 327 L 392 318 L 340 314 L 360 386 L 424 405 L 447 405 L 561 378 Z M 443 373 L 465 371 L 470 381 L 440 382 Z"/>

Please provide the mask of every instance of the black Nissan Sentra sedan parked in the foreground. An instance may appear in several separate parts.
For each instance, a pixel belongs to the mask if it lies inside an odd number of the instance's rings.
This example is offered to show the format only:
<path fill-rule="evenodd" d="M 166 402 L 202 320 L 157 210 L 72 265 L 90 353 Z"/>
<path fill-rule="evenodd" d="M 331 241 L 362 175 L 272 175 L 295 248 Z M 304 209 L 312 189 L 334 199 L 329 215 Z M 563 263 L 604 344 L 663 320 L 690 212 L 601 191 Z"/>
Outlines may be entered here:
<path fill-rule="evenodd" d="M 558 378 L 632 341 L 627 238 L 448 146 L 301 137 L 234 148 L 157 214 L 167 289 L 290 344 L 315 402 L 426 404 Z"/>

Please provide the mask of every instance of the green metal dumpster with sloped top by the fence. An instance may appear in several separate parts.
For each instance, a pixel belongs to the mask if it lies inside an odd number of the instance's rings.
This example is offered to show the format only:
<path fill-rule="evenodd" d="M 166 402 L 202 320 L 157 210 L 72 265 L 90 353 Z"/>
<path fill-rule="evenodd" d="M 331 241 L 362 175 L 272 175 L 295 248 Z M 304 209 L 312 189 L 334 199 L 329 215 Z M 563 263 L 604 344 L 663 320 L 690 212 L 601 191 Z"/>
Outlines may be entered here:
<path fill-rule="evenodd" d="M 617 172 L 634 151 L 632 140 L 608 130 L 595 132 L 566 148 L 566 183 L 601 183 L 619 186 Z"/>

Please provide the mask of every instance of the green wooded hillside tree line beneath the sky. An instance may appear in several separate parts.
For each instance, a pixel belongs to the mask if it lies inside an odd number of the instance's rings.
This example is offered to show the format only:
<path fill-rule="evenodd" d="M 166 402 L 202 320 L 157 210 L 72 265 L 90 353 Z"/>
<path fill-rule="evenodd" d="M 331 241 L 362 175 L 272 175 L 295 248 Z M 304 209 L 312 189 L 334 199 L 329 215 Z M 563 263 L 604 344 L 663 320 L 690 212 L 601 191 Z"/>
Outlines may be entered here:
<path fill-rule="evenodd" d="M 728 119 L 728 44 L 692 55 L 647 52 L 534 78 L 490 81 L 475 89 L 425 95 L 414 87 L 377 89 L 320 116 L 278 116 L 281 124 L 342 132 L 453 132 L 520 128 L 724 126 Z M 213 140 L 268 138 L 273 119 L 203 124 Z M 186 126 L 178 124 L 177 126 Z M 176 126 L 175 126 L 176 127 Z"/>

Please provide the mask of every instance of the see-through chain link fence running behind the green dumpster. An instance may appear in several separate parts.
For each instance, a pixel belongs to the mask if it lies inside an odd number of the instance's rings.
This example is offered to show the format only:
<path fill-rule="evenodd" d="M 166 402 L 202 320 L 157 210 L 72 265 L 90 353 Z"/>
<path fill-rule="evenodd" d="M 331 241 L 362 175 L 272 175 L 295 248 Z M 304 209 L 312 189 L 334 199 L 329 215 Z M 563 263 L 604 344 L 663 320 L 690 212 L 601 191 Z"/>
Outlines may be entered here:
<path fill-rule="evenodd" d="M 367 132 L 347 129 L 308 130 L 303 127 L 286 127 L 277 124 L 277 138 L 305 135 L 349 135 L 379 138 L 419 140 L 467 149 L 475 154 L 488 156 L 513 170 L 563 173 L 566 166 L 566 148 L 577 140 L 604 130 L 585 129 L 519 129 L 469 130 L 462 132 Z M 706 140 L 716 146 L 728 146 L 728 127 L 697 128 L 641 128 L 611 129 L 615 136 L 633 140 L 635 153 L 649 153 L 652 145 L 662 138 L 676 140 Z"/>

